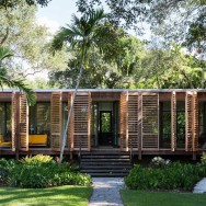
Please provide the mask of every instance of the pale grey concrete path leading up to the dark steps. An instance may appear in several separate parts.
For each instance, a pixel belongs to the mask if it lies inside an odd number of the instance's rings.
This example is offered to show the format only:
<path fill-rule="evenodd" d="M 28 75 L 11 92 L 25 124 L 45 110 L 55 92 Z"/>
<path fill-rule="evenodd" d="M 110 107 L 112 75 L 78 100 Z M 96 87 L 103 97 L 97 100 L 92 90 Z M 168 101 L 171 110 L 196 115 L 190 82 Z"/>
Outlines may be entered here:
<path fill-rule="evenodd" d="M 93 194 L 89 206 L 124 206 L 119 190 L 124 187 L 122 178 L 93 178 Z"/>

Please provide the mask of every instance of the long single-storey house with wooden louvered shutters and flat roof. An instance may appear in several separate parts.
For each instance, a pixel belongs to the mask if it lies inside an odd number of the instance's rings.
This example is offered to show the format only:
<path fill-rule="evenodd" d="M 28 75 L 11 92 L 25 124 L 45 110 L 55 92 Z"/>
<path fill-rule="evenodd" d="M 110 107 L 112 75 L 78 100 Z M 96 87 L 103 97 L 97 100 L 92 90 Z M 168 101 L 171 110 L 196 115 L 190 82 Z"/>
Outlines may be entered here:
<path fill-rule="evenodd" d="M 75 90 L 0 92 L 0 154 L 58 154 Z M 206 150 L 206 90 L 78 90 L 65 154 L 98 149 L 144 154 Z"/>

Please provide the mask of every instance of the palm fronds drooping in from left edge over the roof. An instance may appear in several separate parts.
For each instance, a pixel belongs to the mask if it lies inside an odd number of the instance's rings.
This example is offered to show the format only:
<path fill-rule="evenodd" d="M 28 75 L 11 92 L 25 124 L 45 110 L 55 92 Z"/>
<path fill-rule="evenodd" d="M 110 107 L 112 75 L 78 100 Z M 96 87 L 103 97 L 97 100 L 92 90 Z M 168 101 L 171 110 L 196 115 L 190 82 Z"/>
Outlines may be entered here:
<path fill-rule="evenodd" d="M 8 76 L 8 71 L 3 65 L 3 60 L 12 57 L 13 53 L 8 47 L 0 46 L 0 87 L 3 89 L 3 85 L 9 88 L 18 88 L 20 91 L 24 92 L 27 98 L 27 102 L 30 105 L 35 103 L 34 92 L 24 84 L 22 79 L 12 80 Z"/>

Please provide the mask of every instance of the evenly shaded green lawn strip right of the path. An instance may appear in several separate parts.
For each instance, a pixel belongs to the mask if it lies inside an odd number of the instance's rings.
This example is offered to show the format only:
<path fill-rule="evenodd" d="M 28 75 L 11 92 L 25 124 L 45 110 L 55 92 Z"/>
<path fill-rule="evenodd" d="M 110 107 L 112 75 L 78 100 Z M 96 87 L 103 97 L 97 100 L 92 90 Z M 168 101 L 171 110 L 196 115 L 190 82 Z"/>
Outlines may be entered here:
<path fill-rule="evenodd" d="M 123 190 L 121 195 L 125 206 L 205 206 L 206 194 L 152 193 Z"/>

